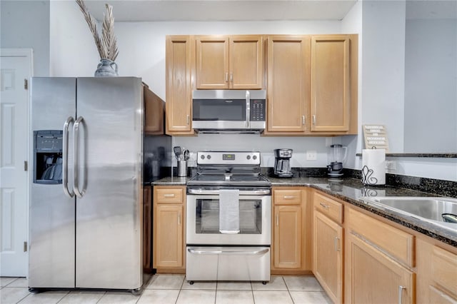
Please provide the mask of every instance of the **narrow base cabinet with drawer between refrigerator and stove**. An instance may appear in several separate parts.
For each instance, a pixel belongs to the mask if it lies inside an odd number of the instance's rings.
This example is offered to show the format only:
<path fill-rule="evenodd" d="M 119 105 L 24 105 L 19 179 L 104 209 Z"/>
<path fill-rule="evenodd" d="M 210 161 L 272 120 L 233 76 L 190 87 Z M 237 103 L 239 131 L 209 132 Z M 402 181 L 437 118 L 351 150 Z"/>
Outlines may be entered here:
<path fill-rule="evenodd" d="M 185 186 L 154 186 L 154 268 L 184 273 Z"/>

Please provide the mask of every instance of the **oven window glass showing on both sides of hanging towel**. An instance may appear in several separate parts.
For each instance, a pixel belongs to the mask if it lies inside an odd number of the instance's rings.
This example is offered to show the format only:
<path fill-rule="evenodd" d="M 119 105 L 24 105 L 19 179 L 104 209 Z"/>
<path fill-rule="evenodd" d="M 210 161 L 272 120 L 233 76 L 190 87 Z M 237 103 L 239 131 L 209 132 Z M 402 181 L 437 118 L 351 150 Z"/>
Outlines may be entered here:
<path fill-rule="evenodd" d="M 239 201 L 240 234 L 262 233 L 261 200 Z M 219 200 L 196 200 L 196 233 L 215 234 L 219 232 Z"/>

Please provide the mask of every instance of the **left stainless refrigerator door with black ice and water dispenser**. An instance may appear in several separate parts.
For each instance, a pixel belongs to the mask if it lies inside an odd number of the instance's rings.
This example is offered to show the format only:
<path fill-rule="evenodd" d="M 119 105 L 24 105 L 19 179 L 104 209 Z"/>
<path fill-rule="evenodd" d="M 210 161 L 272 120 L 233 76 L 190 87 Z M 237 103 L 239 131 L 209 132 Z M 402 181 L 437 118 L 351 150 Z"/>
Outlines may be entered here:
<path fill-rule="evenodd" d="M 61 181 L 34 182 L 37 163 L 39 163 L 36 161 L 37 158 L 43 163 L 41 158 L 47 157 L 49 165 L 59 167 L 60 154 L 57 146 L 46 151 L 48 145 L 45 143 L 38 151 L 39 149 L 34 147 L 33 131 L 54 130 L 54 134 L 57 134 L 62 131 L 67 118 L 75 116 L 75 113 L 76 78 L 31 78 L 29 217 L 29 287 L 31 288 L 74 288 L 75 198 L 66 196 Z M 61 141 L 55 138 L 52 140 L 61 145 Z M 71 162 L 71 153 L 69 158 Z M 38 179 L 42 179 L 42 173 L 42 170 L 38 173 Z M 71 176 L 71 171 L 69 174 Z"/>

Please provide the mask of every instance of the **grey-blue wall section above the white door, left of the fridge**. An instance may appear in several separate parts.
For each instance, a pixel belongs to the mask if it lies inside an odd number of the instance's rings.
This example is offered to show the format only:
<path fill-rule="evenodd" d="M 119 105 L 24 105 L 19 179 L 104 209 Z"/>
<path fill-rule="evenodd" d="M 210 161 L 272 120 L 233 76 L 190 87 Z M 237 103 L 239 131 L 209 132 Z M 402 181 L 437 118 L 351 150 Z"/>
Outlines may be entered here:
<path fill-rule="evenodd" d="M 0 48 L 33 49 L 34 76 L 48 76 L 49 0 L 1 0 L 0 11 Z"/>

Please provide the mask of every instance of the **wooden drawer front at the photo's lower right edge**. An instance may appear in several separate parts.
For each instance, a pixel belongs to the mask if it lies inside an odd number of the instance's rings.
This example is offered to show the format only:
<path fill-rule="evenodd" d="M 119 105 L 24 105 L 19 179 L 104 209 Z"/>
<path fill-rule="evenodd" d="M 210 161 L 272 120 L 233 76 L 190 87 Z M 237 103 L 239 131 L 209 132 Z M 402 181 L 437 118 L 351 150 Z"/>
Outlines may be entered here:
<path fill-rule="evenodd" d="M 453 296 L 457 296 L 457 255 L 433 246 L 431 277 Z"/>

